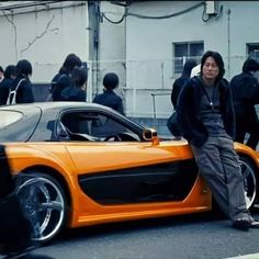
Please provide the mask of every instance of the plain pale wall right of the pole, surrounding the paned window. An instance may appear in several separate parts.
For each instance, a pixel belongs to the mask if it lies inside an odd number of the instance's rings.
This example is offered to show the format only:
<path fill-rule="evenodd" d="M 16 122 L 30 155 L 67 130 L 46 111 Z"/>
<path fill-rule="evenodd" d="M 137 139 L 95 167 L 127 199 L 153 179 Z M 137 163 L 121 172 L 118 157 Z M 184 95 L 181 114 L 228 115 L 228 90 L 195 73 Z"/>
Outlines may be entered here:
<path fill-rule="evenodd" d="M 199 1 L 133 2 L 130 12 L 143 15 L 167 15 L 185 10 Z M 259 43 L 259 2 L 218 1 L 222 13 L 207 22 L 202 20 L 200 7 L 191 12 L 160 20 L 126 19 L 127 114 L 167 117 L 171 110 L 172 43 L 204 41 L 204 50 L 223 55 L 226 78 L 239 72 L 246 58 L 246 43 Z M 221 9 L 218 9 L 221 10 Z M 230 14 L 228 15 L 228 10 Z M 229 45 L 228 45 L 229 42 Z M 229 68 L 229 70 L 228 70 Z M 149 89 L 149 91 L 148 91 Z"/>

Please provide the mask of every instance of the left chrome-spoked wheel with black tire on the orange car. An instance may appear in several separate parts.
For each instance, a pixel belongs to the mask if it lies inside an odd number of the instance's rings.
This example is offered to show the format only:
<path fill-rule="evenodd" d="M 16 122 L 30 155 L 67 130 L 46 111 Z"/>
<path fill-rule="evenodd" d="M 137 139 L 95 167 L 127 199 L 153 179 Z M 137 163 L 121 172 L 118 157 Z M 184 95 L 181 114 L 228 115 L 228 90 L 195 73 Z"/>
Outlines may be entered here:
<path fill-rule="evenodd" d="M 33 239 L 46 243 L 63 228 L 67 217 L 67 202 L 61 185 L 42 172 L 21 173 L 16 191 L 33 227 Z"/>

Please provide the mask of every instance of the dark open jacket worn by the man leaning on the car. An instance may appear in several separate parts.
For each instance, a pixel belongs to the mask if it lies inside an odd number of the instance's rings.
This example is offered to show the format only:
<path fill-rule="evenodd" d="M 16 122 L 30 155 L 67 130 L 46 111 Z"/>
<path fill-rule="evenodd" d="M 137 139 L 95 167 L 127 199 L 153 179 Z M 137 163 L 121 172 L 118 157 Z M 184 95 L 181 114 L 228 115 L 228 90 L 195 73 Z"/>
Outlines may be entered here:
<path fill-rule="evenodd" d="M 226 79 L 218 82 L 219 105 L 226 133 L 235 137 L 235 114 L 229 83 Z M 204 95 L 202 81 L 199 77 L 188 80 L 182 88 L 177 103 L 177 123 L 183 137 L 194 146 L 202 146 L 209 132 L 199 117 L 201 97 Z"/>

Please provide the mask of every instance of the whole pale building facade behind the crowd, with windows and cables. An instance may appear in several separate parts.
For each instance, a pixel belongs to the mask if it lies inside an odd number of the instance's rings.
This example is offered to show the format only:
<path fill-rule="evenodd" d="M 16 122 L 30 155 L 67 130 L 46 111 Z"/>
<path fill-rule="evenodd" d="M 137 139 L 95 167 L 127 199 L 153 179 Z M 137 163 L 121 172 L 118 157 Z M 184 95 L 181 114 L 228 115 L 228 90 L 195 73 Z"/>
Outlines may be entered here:
<path fill-rule="evenodd" d="M 259 1 L 5 1 L 0 3 L 0 65 L 32 61 L 32 81 L 49 83 L 65 57 L 89 65 L 88 101 L 109 71 L 126 115 L 166 119 L 184 61 L 222 54 L 230 79 L 259 53 Z"/>

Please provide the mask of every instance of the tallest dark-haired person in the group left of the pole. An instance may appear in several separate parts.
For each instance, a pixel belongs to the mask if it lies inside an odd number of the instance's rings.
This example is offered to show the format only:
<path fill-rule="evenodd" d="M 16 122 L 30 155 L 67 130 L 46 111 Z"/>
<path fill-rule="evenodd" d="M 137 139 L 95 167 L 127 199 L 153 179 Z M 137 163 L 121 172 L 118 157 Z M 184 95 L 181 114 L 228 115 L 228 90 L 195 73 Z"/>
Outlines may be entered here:
<path fill-rule="evenodd" d="M 82 61 L 76 54 L 67 55 L 58 74 L 52 80 L 52 100 L 61 101 L 61 91 L 71 86 L 71 71 L 75 67 L 81 67 Z"/>

